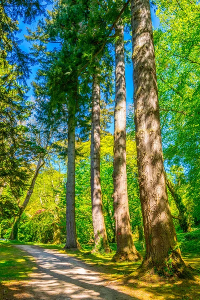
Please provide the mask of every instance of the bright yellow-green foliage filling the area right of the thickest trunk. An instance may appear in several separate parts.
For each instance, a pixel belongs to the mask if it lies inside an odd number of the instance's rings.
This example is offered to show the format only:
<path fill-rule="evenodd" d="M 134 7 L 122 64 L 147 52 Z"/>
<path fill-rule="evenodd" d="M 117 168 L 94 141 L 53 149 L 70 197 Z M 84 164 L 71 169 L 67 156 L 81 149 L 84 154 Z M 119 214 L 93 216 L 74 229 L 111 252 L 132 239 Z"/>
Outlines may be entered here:
<path fill-rule="evenodd" d="M 165 165 L 167 171 L 171 166 L 182 168 L 185 177 L 180 193 L 198 224 L 199 3 L 189 0 L 154 3 L 160 20 L 159 28 L 154 30 L 154 44 Z"/>

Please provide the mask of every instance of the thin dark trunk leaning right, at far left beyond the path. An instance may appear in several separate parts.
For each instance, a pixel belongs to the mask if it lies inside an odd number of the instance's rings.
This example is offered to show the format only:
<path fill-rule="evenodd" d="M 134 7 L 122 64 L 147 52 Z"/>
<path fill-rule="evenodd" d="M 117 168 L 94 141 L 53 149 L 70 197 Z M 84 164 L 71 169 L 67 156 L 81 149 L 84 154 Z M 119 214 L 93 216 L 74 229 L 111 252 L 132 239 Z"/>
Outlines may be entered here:
<path fill-rule="evenodd" d="M 12 225 L 12 230 L 11 230 L 9 239 L 13 240 L 13 239 L 18 238 L 18 225 L 20 223 L 21 215 L 22 215 L 23 211 L 25 210 L 25 208 L 26 208 L 26 206 L 27 206 L 27 204 L 30 200 L 31 194 L 33 192 L 35 181 L 36 181 L 37 176 L 39 174 L 39 170 L 43 165 L 44 165 L 44 161 L 42 161 L 42 157 L 40 157 L 38 162 L 37 162 L 37 166 L 36 166 L 36 169 L 35 169 L 35 172 L 34 172 L 34 176 L 31 180 L 31 183 L 30 183 L 30 186 L 29 186 L 28 191 L 26 193 L 25 199 L 24 199 L 22 205 L 18 204 L 19 210 L 18 210 L 17 215 L 14 218 L 14 222 L 13 222 L 13 225 Z"/>

